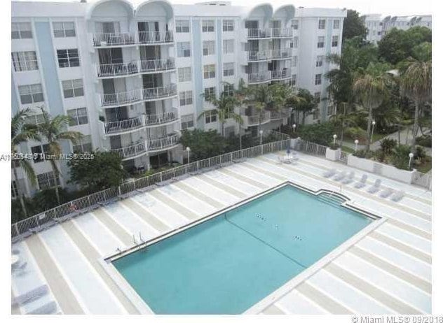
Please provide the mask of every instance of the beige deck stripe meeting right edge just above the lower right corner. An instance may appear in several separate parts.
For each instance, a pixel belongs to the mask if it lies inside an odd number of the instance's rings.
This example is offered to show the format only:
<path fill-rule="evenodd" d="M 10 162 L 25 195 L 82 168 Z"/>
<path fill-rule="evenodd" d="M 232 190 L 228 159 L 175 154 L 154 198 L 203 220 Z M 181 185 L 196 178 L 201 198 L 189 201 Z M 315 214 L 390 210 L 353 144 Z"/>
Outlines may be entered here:
<path fill-rule="evenodd" d="M 390 264 L 388 261 L 377 257 L 372 252 L 367 252 L 360 247 L 354 245 L 351 247 L 349 252 L 355 254 L 355 256 L 360 257 L 364 261 L 369 262 L 370 264 L 381 268 L 383 271 L 390 273 L 391 275 L 395 275 L 395 277 L 408 282 L 411 285 L 414 285 L 418 289 L 421 289 L 423 292 L 428 294 L 431 293 L 431 285 L 430 282 L 427 282 L 416 275 L 412 275 L 411 273 L 404 271 L 402 268 L 399 268 L 393 264 Z"/>

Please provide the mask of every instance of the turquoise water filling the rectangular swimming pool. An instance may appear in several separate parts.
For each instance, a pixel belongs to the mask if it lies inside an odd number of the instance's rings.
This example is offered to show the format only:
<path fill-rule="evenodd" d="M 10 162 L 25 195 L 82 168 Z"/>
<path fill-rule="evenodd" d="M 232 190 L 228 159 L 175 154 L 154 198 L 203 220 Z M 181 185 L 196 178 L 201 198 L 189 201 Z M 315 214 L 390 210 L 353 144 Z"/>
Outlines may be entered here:
<path fill-rule="evenodd" d="M 287 185 L 113 264 L 154 313 L 238 314 L 371 221 Z"/>

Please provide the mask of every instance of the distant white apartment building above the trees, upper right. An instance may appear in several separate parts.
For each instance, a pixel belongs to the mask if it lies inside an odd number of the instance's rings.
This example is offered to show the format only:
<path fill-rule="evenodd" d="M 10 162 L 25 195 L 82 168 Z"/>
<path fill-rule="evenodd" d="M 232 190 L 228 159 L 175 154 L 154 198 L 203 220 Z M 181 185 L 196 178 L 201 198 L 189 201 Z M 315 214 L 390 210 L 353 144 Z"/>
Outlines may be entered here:
<path fill-rule="evenodd" d="M 407 30 L 411 27 L 426 27 L 432 29 L 431 15 L 415 16 L 386 16 L 379 14 L 363 15 L 364 25 L 367 28 L 367 41 L 378 43 L 388 31 L 393 28 Z"/>

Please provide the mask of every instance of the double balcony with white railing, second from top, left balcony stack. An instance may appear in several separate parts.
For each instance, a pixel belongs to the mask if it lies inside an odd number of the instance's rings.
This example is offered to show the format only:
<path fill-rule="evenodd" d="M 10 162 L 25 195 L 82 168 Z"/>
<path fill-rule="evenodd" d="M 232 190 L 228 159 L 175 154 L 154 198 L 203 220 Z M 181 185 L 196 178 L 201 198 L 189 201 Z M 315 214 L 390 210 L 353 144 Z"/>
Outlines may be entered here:
<path fill-rule="evenodd" d="M 139 73 L 156 73 L 173 71 L 174 59 L 152 59 L 149 61 L 134 61 L 130 63 L 97 64 L 98 78 L 115 78 L 119 76 L 132 76 Z"/>

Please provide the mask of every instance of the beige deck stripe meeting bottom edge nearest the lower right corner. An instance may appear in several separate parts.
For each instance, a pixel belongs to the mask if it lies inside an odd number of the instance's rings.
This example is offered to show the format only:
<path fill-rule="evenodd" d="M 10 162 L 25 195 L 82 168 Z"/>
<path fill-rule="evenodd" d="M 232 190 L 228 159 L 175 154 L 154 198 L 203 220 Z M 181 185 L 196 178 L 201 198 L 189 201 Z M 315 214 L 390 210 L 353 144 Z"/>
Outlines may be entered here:
<path fill-rule="evenodd" d="M 350 271 L 347 271 L 346 269 L 337 266 L 333 262 L 325 266 L 324 269 L 329 273 L 332 273 L 332 275 L 335 275 L 341 280 L 347 282 L 349 285 L 352 285 L 353 287 L 360 289 L 360 291 L 371 296 L 373 299 L 378 300 L 380 303 L 382 303 L 385 306 L 388 306 L 388 308 L 391 308 L 397 313 L 420 314 L 420 312 L 418 312 L 418 310 L 416 310 L 415 308 L 412 308 L 408 304 L 403 303 L 399 299 L 396 299 L 392 295 L 375 287 L 369 282 L 362 280 L 361 278 L 357 277 L 357 275 L 350 273 Z"/>

